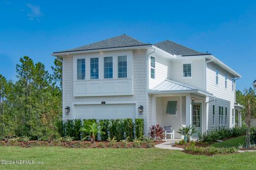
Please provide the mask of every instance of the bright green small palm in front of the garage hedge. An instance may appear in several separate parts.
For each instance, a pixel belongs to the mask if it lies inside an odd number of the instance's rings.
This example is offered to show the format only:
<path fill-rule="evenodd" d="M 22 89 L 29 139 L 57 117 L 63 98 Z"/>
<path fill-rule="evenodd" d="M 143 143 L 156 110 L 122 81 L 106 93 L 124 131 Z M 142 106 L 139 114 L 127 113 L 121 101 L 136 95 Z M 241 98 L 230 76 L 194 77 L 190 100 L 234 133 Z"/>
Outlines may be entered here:
<path fill-rule="evenodd" d="M 98 123 L 93 123 L 92 125 L 89 125 L 88 128 L 83 127 L 80 129 L 80 131 L 89 134 L 87 137 L 90 137 L 91 143 L 94 143 L 95 137 L 98 135 L 98 133 L 105 134 L 105 132 L 101 132 L 101 128 Z"/>

